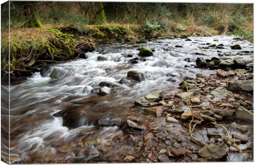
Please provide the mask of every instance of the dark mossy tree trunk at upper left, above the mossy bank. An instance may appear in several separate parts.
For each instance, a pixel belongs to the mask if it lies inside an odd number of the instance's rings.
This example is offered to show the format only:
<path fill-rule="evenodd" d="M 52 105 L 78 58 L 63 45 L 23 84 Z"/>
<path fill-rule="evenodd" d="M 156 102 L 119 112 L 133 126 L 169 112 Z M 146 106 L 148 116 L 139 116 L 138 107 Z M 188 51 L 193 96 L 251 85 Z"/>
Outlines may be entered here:
<path fill-rule="evenodd" d="M 43 28 L 40 22 L 37 2 L 26 2 L 24 5 L 24 16 L 26 17 L 26 22 L 24 26 L 26 28 Z"/>

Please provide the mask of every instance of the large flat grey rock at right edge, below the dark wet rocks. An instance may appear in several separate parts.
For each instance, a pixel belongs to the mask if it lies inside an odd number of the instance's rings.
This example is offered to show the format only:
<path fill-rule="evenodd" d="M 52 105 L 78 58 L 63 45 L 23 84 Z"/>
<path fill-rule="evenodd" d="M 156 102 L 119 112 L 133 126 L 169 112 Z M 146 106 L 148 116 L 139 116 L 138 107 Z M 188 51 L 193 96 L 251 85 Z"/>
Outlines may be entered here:
<path fill-rule="evenodd" d="M 253 80 L 231 82 L 228 89 L 235 92 L 241 91 L 252 93 L 254 91 Z"/>

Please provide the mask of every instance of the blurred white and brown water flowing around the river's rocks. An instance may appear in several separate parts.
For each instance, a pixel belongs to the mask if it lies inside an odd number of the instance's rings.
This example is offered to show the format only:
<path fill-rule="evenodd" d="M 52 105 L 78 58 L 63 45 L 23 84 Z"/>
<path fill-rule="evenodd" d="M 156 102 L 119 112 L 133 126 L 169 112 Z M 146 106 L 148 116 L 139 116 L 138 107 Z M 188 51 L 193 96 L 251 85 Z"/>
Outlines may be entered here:
<path fill-rule="evenodd" d="M 87 59 L 51 65 L 43 73 L 34 73 L 22 83 L 11 85 L 11 158 L 30 160 L 34 163 L 42 163 L 40 162 L 42 160 L 74 159 L 121 162 L 129 153 L 135 155 L 140 153 L 140 147 L 145 145 L 140 137 L 143 131 L 135 135 L 135 145 L 127 144 L 124 140 L 127 134 L 120 127 L 95 126 L 96 120 L 108 117 L 133 118 L 144 127 L 146 125 L 154 127 L 159 136 L 165 134 L 166 129 L 170 129 L 172 132 L 169 135 L 170 139 L 177 136 L 190 139 L 188 134 L 184 136 L 180 133 L 183 129 L 182 125 L 171 125 L 165 122 L 164 116 L 156 118 L 145 113 L 141 106 L 134 105 L 134 101 L 152 90 L 160 90 L 164 93 L 178 92 L 178 84 L 185 77 L 194 77 L 196 73 L 206 75 L 216 73 L 214 70 L 195 68 L 197 57 L 211 59 L 218 57 L 218 54 L 226 54 L 222 58 L 253 60 L 253 52 L 251 52 L 253 44 L 232 40 L 233 37 L 191 37 L 191 42 L 184 39 L 166 39 L 151 41 L 147 44 L 98 45 L 97 51 L 87 53 Z M 218 41 L 214 41 L 216 38 Z M 226 49 L 201 49 L 207 46 L 207 42 L 223 44 Z M 235 42 L 242 46 L 242 50 L 230 49 Z M 137 48 L 141 45 L 155 50 L 154 56 L 145 57 L 144 60 L 140 58 L 138 64 L 131 64 L 129 61 L 138 57 Z M 175 47 L 175 45 L 183 47 Z M 249 52 L 244 53 L 243 56 L 236 55 L 244 50 Z M 127 57 L 128 54 L 132 54 L 133 57 Z M 97 61 L 99 56 L 107 59 Z M 51 79 L 50 72 L 54 67 L 63 68 L 65 74 L 61 78 Z M 91 92 L 102 81 L 119 84 L 119 80 L 126 77 L 128 71 L 142 72 L 146 80 L 131 87 L 121 85 L 107 96 L 99 96 Z M 2 92 L 6 90 L 7 86 L 2 85 Z M 183 108 L 187 109 L 186 106 Z M 66 126 L 62 117 L 53 116 L 62 110 L 68 111 L 66 115 L 70 115 L 69 118 L 72 119 L 66 121 L 69 126 Z M 2 109 L 2 116 L 6 117 L 5 114 L 8 113 Z M 226 126 L 231 129 L 235 125 L 237 125 L 236 121 Z M 247 125 L 251 128 L 246 135 L 252 138 L 252 124 L 247 123 Z M 235 133 L 239 134 L 239 132 Z M 120 134 L 123 135 L 120 140 L 113 139 Z M 193 144 L 187 140 L 178 145 Z M 61 148 L 61 146 L 64 147 Z M 155 148 L 157 150 L 161 147 L 166 146 L 156 144 Z M 98 154 L 100 156 L 95 157 Z M 251 153 L 231 152 L 223 161 L 251 161 L 252 159 Z"/>

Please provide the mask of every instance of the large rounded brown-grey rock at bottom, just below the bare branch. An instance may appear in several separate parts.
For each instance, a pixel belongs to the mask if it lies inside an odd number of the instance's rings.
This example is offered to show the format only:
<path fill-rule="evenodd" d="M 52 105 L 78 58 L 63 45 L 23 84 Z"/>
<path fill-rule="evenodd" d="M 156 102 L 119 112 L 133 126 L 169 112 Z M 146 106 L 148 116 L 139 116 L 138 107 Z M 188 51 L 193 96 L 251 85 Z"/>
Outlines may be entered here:
<path fill-rule="evenodd" d="M 203 146 L 198 150 L 199 156 L 203 158 L 213 158 L 213 159 L 220 159 L 223 156 L 228 154 L 228 151 L 220 146 L 216 146 L 214 144 L 209 144 Z"/>

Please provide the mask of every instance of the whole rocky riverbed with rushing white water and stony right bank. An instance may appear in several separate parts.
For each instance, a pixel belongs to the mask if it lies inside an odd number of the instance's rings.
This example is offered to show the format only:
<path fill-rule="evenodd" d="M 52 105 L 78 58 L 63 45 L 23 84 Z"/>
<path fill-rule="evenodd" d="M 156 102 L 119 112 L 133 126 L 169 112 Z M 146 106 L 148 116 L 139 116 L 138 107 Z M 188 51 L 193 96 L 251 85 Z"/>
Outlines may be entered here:
<path fill-rule="evenodd" d="M 253 161 L 230 146 L 253 151 L 253 44 L 233 39 L 99 45 L 43 68 L 11 86 L 11 159 Z"/>

